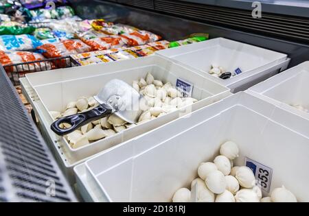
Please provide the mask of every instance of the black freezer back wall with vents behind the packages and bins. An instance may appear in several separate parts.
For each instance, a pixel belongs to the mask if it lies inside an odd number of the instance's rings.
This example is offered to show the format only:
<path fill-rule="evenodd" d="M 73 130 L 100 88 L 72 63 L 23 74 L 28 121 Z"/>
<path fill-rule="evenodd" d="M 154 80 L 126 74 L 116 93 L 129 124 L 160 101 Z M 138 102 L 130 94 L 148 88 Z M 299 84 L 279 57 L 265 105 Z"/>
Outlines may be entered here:
<path fill-rule="evenodd" d="M 181 7 L 178 7 L 176 4 L 174 5 L 171 4 L 171 2 L 177 2 L 178 4 L 181 4 L 180 1 L 162 1 L 162 3 L 165 3 L 165 5 L 170 5 L 169 7 L 170 12 L 162 12 L 161 10 L 151 10 L 145 7 L 137 7 L 136 5 L 128 5 L 128 3 L 132 2 L 135 2 L 136 4 L 137 1 L 126 1 L 126 5 L 120 4 L 119 1 L 117 2 L 118 3 L 115 3 L 115 1 L 108 2 L 103 0 L 93 0 L 93 1 L 75 0 L 73 1 L 72 6 L 76 10 L 78 16 L 84 19 L 96 19 L 100 17 L 102 19 L 113 21 L 115 23 L 124 23 L 128 25 L 133 25 L 140 29 L 149 30 L 150 32 L 159 34 L 163 36 L 165 40 L 170 41 L 180 40 L 185 38 L 186 36 L 189 36 L 192 33 L 203 32 L 209 34 L 209 38 L 223 37 L 231 40 L 236 40 L 242 43 L 263 47 L 265 49 L 271 49 L 273 51 L 277 51 L 280 53 L 287 53 L 288 58 L 291 58 L 289 67 L 294 67 L 295 65 L 300 64 L 301 62 L 309 60 L 308 42 L 304 42 L 304 40 L 297 40 L 296 38 L 290 38 L 290 35 L 283 36 L 282 34 L 282 36 L 279 36 L 278 34 L 275 36 L 273 34 L 262 34 L 261 32 L 260 33 L 256 32 L 254 22 L 264 22 L 264 21 L 256 19 L 253 20 L 252 16 L 250 16 L 251 18 L 249 19 L 249 23 L 251 22 L 253 23 L 251 29 L 248 28 L 243 29 L 238 28 L 236 26 L 221 25 L 220 23 L 211 22 L 212 18 L 196 19 L 195 15 L 192 15 L 195 18 L 190 16 L 181 16 L 179 15 L 178 12 L 176 12 L 177 8 Z M 198 10 L 206 11 L 205 8 L 211 7 L 209 5 L 206 6 L 203 5 L 203 7 L 198 7 L 196 3 L 193 3 L 192 6 L 196 11 Z M 157 7 L 159 7 L 159 5 L 157 5 Z M 160 7 L 162 8 L 162 10 L 169 10 L 168 8 L 164 8 L 163 6 Z M 95 10 L 93 10 L 93 8 L 95 8 Z M 190 6 L 188 6 L 187 8 L 190 9 Z M 225 8 L 223 9 L 220 9 L 220 7 L 215 8 L 216 10 L 225 10 Z M 192 10 L 192 7 L 190 10 Z M 233 9 L 228 8 L 228 10 Z M 186 11 L 187 10 L 183 10 L 183 12 Z M 217 13 L 214 12 L 214 15 L 216 14 Z M 237 14 L 238 16 L 247 17 L 248 12 L 247 15 L 242 14 L 241 12 L 240 13 L 238 12 Z M 251 12 L 249 14 L 251 14 Z M 201 14 L 197 13 L 196 15 L 199 15 L 201 18 L 203 18 L 203 15 Z M 265 17 L 265 19 L 266 18 L 267 17 Z M 283 22 L 284 25 L 286 25 L 285 27 L 286 31 L 288 31 L 285 34 L 292 33 L 292 31 L 290 32 L 288 30 L 288 25 L 290 24 L 288 23 L 287 20 L 283 18 L 281 20 L 277 19 L 277 16 L 273 15 L 267 19 L 270 20 L 273 19 L 273 21 L 280 23 Z M 233 20 L 240 22 L 236 17 L 231 18 L 231 21 Z M 301 19 L 301 20 L 305 20 L 306 23 L 308 23 L 308 19 Z M 294 21 L 291 22 L 293 23 Z M 225 21 L 222 21 L 222 23 L 224 24 Z M 268 21 L 264 23 L 266 23 L 268 27 L 273 29 L 273 25 L 271 23 L 267 24 Z M 260 25 L 262 26 L 262 24 Z M 296 25 L 295 29 L 297 29 Z M 309 39 L 308 29 L 306 31 L 307 31 L 306 34 Z"/>

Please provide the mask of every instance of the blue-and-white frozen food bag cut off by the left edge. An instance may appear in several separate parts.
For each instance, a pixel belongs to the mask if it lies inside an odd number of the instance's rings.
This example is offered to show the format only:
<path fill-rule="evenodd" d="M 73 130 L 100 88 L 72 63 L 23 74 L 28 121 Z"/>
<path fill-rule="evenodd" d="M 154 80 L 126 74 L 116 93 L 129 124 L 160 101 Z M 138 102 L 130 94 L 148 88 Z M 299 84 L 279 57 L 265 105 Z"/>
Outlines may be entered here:
<path fill-rule="evenodd" d="M 41 41 L 29 34 L 0 36 L 0 51 L 25 51 L 40 45 Z"/>

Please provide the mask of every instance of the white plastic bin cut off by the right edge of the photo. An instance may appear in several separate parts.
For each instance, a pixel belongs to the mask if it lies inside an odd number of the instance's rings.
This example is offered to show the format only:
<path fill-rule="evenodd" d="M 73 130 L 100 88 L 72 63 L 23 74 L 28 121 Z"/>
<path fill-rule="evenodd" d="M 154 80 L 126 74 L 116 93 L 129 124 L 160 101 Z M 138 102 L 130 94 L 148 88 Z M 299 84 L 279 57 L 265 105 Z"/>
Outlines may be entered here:
<path fill-rule="evenodd" d="M 309 119 L 309 61 L 249 88 L 248 92 Z"/>

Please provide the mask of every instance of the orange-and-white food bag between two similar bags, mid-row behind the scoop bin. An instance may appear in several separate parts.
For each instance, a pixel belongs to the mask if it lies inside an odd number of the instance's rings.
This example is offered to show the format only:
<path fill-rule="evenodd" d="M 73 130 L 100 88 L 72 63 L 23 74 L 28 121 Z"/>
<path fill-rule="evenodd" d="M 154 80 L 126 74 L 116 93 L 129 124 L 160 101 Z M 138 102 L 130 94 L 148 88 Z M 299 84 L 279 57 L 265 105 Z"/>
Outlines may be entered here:
<path fill-rule="evenodd" d="M 93 51 L 119 48 L 126 45 L 127 40 L 120 36 L 107 36 L 103 38 L 92 38 L 89 40 L 82 40 L 89 45 Z"/>

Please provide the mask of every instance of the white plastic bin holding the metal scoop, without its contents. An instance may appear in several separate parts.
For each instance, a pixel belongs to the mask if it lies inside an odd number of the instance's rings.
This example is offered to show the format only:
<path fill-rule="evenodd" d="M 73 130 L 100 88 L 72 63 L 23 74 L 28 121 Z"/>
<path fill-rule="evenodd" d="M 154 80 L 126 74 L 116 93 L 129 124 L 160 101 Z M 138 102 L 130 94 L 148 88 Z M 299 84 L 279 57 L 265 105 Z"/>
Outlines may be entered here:
<path fill-rule="evenodd" d="M 79 72 L 74 76 L 75 68 L 71 68 L 60 71 L 60 75 L 58 74 L 59 76 L 57 78 L 58 80 L 53 80 L 54 82 L 52 83 L 48 84 L 45 81 L 45 84 L 40 85 L 39 82 L 36 81 L 36 86 L 30 85 L 30 88 L 36 93 L 34 96 L 32 95 L 31 99 L 34 98 L 32 104 L 41 120 L 41 125 L 45 128 L 46 136 L 49 136 L 52 143 L 54 143 L 62 163 L 64 163 L 67 168 L 72 168 L 89 156 L 93 156 L 109 147 L 113 147 L 114 145 L 128 141 L 144 132 L 157 128 L 181 115 L 187 114 L 187 112 L 197 110 L 198 108 L 207 106 L 231 95 L 229 88 L 221 86 L 211 80 L 207 80 L 201 75 L 190 71 L 190 69 L 186 69 L 185 67 L 159 56 L 141 58 L 139 61 L 126 60 L 117 62 L 117 64 L 98 64 L 95 68 L 98 73 L 97 75 L 95 75 L 93 71 L 88 70 L 93 69 L 93 67 L 82 68 L 84 68 L 85 77 L 82 77 L 82 74 Z M 155 79 L 163 80 L 163 82 L 171 82 L 173 85 L 175 85 L 177 78 L 190 82 L 194 85 L 192 97 L 199 99 L 199 101 L 190 108 L 187 107 L 182 110 L 177 110 L 176 112 L 170 112 L 163 117 L 142 123 L 133 128 L 128 128 L 114 136 L 109 136 L 106 139 L 96 141 L 95 143 L 85 145 L 78 149 L 72 149 L 62 136 L 56 136 L 56 134 L 50 130 L 53 119 L 52 116 L 49 115 L 49 111 L 62 111 L 69 101 L 74 101 L 81 96 L 89 97 L 96 95 L 104 84 L 112 79 L 121 79 L 131 84 L 133 80 L 137 80 L 139 77 L 145 77 L 148 72 L 152 73 Z M 54 71 L 42 73 L 42 77 L 36 75 L 36 78 L 39 77 L 39 79 L 45 80 L 43 77 L 48 77 L 50 73 L 54 73 Z M 93 76 L 86 77 L 89 74 Z M 63 80 L 61 80 L 62 75 L 64 76 Z M 27 78 L 32 82 L 29 76 Z M 21 82 L 24 86 L 25 80 L 21 80 Z"/>

